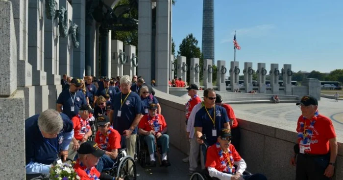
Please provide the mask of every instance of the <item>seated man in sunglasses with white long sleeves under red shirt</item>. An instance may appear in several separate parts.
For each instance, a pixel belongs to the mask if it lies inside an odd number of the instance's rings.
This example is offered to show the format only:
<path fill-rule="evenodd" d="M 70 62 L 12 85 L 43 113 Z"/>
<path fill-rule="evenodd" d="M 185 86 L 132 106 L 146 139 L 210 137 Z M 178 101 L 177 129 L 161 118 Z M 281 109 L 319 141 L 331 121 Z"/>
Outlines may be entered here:
<path fill-rule="evenodd" d="M 222 129 L 217 143 L 208 147 L 205 166 L 209 175 L 220 180 L 267 180 L 262 174 L 243 175 L 246 163 L 230 143 L 231 138 L 231 131 Z"/>

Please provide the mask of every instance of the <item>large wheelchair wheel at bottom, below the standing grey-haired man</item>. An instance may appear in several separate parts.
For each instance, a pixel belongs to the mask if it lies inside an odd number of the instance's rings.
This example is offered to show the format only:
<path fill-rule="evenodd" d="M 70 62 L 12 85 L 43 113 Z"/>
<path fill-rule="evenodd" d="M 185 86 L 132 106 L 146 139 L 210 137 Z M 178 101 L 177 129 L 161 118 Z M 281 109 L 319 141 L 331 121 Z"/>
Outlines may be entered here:
<path fill-rule="evenodd" d="M 129 165 L 129 162 L 131 165 Z M 124 157 L 118 166 L 117 177 L 123 178 L 123 180 L 136 180 L 137 179 L 137 167 L 135 160 L 130 157 Z"/>

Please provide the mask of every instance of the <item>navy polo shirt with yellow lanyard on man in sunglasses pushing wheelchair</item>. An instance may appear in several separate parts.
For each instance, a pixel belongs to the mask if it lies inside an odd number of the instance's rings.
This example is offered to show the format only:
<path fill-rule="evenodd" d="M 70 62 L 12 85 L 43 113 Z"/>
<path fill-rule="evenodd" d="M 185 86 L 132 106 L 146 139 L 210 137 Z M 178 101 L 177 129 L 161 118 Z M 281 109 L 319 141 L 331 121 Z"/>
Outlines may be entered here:
<path fill-rule="evenodd" d="M 215 129 L 217 130 L 217 135 L 219 135 L 221 129 L 224 128 L 224 123 L 230 122 L 230 119 L 227 117 L 226 110 L 221 106 L 216 106 L 216 119 L 215 119 Z M 213 119 L 214 108 L 207 109 L 208 113 Z M 217 142 L 218 136 L 212 135 L 213 122 L 209 115 L 207 114 L 205 107 L 202 107 L 198 112 L 196 112 L 196 118 L 194 122 L 194 127 L 202 127 L 202 134 L 206 135 L 207 143 L 213 145 Z"/>

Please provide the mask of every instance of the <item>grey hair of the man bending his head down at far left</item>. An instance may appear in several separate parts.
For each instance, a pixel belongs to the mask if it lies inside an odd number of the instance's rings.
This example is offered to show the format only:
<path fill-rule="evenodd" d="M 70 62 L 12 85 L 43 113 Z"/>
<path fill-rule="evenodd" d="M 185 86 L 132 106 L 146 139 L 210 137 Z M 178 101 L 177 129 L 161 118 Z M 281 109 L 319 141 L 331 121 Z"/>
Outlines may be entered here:
<path fill-rule="evenodd" d="M 63 120 L 59 112 L 49 109 L 39 115 L 38 126 L 46 133 L 59 133 L 63 129 Z"/>

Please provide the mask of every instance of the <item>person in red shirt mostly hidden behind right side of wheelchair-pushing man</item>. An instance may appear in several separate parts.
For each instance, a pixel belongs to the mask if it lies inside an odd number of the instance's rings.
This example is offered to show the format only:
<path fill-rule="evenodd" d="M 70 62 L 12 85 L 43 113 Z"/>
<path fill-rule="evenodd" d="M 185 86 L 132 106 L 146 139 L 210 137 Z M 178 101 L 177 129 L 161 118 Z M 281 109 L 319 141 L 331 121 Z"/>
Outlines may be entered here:
<path fill-rule="evenodd" d="M 241 131 L 238 127 L 238 122 L 235 116 L 235 112 L 230 105 L 224 104 L 221 95 L 216 94 L 216 105 L 225 108 L 227 112 L 227 117 L 230 119 L 230 128 L 232 133 L 231 144 L 233 144 L 237 151 L 240 150 L 240 141 L 241 141 Z"/>

